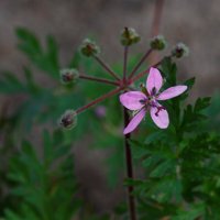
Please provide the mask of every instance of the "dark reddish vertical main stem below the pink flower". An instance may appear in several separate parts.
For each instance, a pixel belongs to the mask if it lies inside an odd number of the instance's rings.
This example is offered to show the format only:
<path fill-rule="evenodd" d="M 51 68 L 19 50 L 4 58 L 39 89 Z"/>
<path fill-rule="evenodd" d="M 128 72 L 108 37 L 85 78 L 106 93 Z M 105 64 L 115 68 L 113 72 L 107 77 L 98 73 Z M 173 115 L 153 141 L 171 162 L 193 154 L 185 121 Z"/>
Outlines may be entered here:
<path fill-rule="evenodd" d="M 123 108 L 124 113 L 124 128 L 129 123 L 129 112 L 125 108 Z M 133 165 L 132 165 L 132 154 L 130 147 L 130 134 L 124 135 L 124 151 L 125 151 L 125 162 L 127 162 L 127 177 L 133 179 Z M 133 186 L 128 187 L 128 200 L 129 200 L 129 212 L 130 219 L 136 220 L 136 211 L 135 211 L 135 200 L 133 194 Z"/>

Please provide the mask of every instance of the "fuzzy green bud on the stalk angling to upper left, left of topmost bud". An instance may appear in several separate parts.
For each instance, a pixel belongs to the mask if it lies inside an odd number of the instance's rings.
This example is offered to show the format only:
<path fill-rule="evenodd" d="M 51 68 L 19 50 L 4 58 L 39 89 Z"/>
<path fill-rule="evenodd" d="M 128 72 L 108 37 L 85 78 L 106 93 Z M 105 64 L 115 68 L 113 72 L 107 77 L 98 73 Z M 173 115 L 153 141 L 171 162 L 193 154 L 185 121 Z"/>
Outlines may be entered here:
<path fill-rule="evenodd" d="M 91 40 L 85 38 L 81 46 L 80 52 L 85 56 L 95 56 L 100 53 L 99 46 Z"/>

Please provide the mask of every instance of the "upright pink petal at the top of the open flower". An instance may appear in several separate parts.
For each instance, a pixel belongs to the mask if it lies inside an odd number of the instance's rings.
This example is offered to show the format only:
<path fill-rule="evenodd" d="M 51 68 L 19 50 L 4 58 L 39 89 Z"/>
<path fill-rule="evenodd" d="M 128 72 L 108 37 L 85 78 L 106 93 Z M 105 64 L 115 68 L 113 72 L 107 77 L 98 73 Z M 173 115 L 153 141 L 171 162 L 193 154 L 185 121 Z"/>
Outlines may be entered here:
<path fill-rule="evenodd" d="M 152 95 L 152 90 L 155 88 L 155 92 L 162 88 L 163 78 L 157 68 L 151 67 L 148 77 L 146 79 L 146 89 L 150 95 Z"/>

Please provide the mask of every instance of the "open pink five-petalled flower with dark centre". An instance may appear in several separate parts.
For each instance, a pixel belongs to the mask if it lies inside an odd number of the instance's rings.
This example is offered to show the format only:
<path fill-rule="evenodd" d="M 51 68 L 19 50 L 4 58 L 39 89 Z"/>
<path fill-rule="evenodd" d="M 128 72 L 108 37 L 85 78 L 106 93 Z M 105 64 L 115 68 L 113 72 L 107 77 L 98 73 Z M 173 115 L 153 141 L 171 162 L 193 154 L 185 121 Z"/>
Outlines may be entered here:
<path fill-rule="evenodd" d="M 129 110 L 138 111 L 123 131 L 123 134 L 132 132 L 141 123 L 150 110 L 151 118 L 160 129 L 166 129 L 169 118 L 166 109 L 158 103 L 160 100 L 167 100 L 186 91 L 187 86 L 174 86 L 162 92 L 163 78 L 158 69 L 151 68 L 146 79 L 146 91 L 128 91 L 120 96 L 121 103 Z"/>

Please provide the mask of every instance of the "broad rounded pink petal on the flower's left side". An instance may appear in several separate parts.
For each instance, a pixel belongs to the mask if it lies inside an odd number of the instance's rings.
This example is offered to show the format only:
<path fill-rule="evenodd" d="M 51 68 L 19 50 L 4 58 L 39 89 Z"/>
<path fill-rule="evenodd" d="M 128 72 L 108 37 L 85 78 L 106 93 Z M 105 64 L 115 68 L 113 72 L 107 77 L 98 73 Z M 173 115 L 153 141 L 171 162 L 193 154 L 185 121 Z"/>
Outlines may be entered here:
<path fill-rule="evenodd" d="M 120 96 L 121 103 L 130 110 L 139 110 L 144 105 L 140 100 L 145 100 L 146 96 L 141 91 L 129 91 Z"/>

